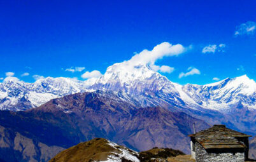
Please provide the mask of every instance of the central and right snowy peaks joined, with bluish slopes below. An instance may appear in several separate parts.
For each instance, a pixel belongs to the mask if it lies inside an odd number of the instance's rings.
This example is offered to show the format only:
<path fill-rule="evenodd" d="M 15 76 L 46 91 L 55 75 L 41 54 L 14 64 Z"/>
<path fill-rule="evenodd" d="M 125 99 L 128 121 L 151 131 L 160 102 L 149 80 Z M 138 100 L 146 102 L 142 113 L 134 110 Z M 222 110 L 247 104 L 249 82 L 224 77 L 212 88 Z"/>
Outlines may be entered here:
<path fill-rule="evenodd" d="M 256 83 L 247 76 L 203 86 L 169 81 L 149 65 L 114 64 L 89 87 L 118 91 L 137 105 L 182 111 L 211 124 L 225 124 L 241 132 L 256 132 Z"/>

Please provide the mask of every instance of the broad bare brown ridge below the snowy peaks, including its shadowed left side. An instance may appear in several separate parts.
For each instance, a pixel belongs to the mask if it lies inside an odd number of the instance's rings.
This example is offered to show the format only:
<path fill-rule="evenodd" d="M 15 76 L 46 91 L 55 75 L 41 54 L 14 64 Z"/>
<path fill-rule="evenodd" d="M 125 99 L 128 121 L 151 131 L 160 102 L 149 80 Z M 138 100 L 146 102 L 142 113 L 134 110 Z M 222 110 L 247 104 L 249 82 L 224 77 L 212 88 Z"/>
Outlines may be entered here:
<path fill-rule="evenodd" d="M 13 130 L 34 142 L 34 145 L 25 142 L 22 148 L 38 148 L 39 144 L 44 144 L 52 148 L 52 153 L 96 137 L 107 138 L 136 151 L 157 146 L 188 153 L 190 147 L 187 135 L 192 133 L 193 123 L 196 123 L 197 130 L 209 127 L 204 121 L 184 112 L 171 112 L 162 107 L 137 107 L 115 93 L 104 91 L 56 98 L 27 111 L 0 111 L 0 116 L 0 125 L 4 129 Z M 15 137 L 8 137 L 8 140 L 15 143 Z M 4 145 L 4 141 L 0 140 L 0 145 Z M 13 150 L 14 146 L 1 148 Z M 18 152 L 22 156 L 13 157 L 17 157 L 17 161 L 49 159 L 47 152 L 39 149 L 35 153 L 30 151 L 27 149 L 25 153 L 24 149 L 20 149 Z M 3 157 L 2 161 L 10 159 Z"/>

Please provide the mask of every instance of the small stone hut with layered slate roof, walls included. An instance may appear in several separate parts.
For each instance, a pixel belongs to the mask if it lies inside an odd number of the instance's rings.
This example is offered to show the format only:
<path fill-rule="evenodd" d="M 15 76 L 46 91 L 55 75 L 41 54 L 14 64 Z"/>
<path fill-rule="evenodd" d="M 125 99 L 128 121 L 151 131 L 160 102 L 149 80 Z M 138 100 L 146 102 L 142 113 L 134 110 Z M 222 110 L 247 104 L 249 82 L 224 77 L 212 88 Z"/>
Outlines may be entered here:
<path fill-rule="evenodd" d="M 225 125 L 213 125 L 207 130 L 188 135 L 191 156 L 201 161 L 245 161 L 248 159 L 248 137 Z"/>

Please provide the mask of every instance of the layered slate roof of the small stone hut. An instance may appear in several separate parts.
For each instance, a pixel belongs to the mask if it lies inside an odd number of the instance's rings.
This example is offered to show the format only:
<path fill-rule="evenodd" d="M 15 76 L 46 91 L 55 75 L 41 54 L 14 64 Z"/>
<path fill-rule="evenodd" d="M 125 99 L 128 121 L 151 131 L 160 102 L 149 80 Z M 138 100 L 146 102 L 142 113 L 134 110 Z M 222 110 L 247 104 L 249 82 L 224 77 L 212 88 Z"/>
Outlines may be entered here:
<path fill-rule="evenodd" d="M 226 128 L 225 125 L 214 125 L 211 128 L 188 136 L 194 137 L 204 149 L 245 148 L 246 145 L 243 142 L 239 142 L 235 137 L 252 137 Z"/>

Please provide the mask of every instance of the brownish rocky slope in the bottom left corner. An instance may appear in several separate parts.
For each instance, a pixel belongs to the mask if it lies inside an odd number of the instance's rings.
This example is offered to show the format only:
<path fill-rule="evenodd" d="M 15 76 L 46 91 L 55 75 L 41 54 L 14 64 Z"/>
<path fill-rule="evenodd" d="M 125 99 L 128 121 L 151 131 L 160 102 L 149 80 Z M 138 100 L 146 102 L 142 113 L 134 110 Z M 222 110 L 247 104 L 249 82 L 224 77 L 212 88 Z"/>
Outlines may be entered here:
<path fill-rule="evenodd" d="M 64 149 L 46 145 L 22 133 L 0 126 L 0 161 L 47 161 Z"/>

